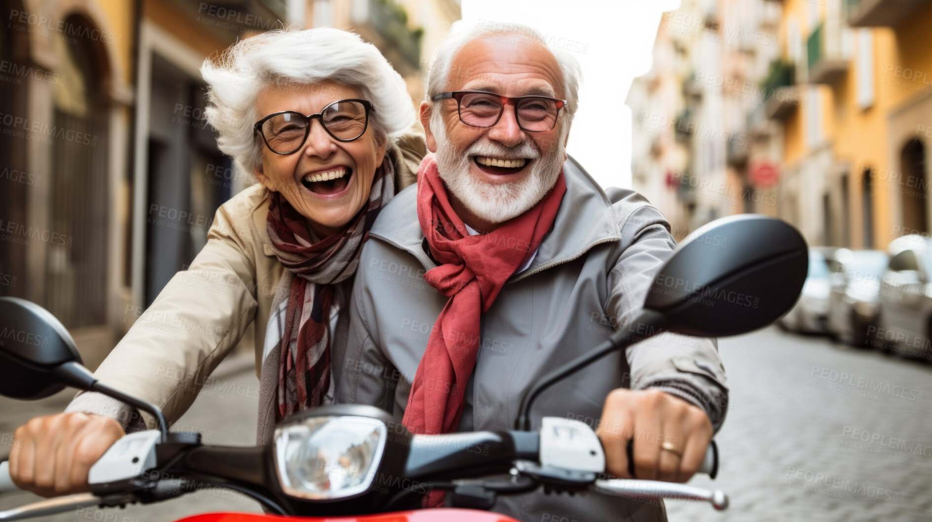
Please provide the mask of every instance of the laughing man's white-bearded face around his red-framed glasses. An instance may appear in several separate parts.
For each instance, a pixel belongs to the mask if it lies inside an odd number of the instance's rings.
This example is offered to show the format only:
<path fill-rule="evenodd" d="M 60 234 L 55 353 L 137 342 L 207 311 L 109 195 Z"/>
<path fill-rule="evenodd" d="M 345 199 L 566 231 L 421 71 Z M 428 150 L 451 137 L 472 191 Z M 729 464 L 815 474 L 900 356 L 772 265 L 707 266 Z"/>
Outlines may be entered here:
<path fill-rule="evenodd" d="M 562 99 L 563 75 L 544 46 L 516 46 L 477 38 L 450 64 L 445 90 L 482 90 L 507 97 Z M 528 132 L 518 126 L 514 108 L 503 107 L 492 127 L 470 127 L 459 119 L 456 100 L 421 106 L 428 148 L 459 217 L 488 231 L 534 207 L 554 186 L 566 160 L 569 128 Z"/>

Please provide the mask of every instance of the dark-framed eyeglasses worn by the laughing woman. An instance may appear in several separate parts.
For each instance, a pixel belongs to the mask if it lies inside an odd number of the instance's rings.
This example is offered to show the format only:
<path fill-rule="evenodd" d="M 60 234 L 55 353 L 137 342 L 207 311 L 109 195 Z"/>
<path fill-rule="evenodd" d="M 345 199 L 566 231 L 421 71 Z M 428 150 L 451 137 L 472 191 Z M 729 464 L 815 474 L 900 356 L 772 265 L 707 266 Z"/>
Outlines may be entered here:
<path fill-rule="evenodd" d="M 275 154 L 292 154 L 304 146 L 310 134 L 310 122 L 321 119 L 323 130 L 336 141 L 353 141 L 369 126 L 372 103 L 366 100 L 337 100 L 318 114 L 295 111 L 268 114 L 255 122 L 254 132 L 262 135 L 268 150 Z"/>

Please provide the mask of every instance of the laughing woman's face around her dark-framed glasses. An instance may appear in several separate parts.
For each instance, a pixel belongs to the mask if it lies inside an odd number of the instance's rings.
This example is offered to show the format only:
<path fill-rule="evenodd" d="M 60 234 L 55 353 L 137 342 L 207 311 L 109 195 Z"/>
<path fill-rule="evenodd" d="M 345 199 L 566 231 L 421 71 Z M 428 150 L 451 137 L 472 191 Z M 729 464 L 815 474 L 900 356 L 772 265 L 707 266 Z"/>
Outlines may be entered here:
<path fill-rule="evenodd" d="M 259 118 L 282 111 L 317 114 L 333 101 L 362 98 L 357 89 L 333 82 L 268 87 L 256 101 L 255 114 Z M 357 140 L 336 141 L 315 118 L 308 141 L 295 153 L 275 154 L 262 143 L 256 180 L 281 193 L 320 237 L 335 234 L 368 201 L 376 169 L 385 157 L 385 141 L 376 137 L 372 127 L 370 121 Z"/>

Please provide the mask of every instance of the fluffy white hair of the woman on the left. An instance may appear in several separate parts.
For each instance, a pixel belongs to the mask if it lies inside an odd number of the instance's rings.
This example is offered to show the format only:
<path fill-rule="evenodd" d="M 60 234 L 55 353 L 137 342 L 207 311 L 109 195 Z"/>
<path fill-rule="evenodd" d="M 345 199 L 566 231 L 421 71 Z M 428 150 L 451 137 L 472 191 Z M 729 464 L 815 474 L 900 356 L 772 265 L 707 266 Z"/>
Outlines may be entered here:
<path fill-rule="evenodd" d="M 324 81 L 354 87 L 372 102 L 371 127 L 390 145 L 414 124 L 415 113 L 404 78 L 359 34 L 321 27 L 260 33 L 204 60 L 207 122 L 217 130 L 217 146 L 252 175 L 261 163 L 261 138 L 254 124 L 255 101 L 267 87 L 310 86 Z"/>

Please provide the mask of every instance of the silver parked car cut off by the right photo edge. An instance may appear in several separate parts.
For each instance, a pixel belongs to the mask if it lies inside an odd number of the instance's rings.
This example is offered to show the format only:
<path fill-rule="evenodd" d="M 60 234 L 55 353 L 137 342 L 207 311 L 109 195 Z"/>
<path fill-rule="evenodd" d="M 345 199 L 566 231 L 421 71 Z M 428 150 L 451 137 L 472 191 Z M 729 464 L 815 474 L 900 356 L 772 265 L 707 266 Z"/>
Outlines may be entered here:
<path fill-rule="evenodd" d="M 932 357 L 932 239 L 910 234 L 887 248 L 881 277 L 876 341 L 886 351 L 926 361 Z"/>

